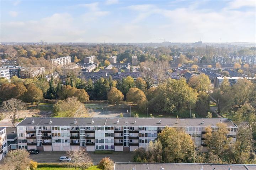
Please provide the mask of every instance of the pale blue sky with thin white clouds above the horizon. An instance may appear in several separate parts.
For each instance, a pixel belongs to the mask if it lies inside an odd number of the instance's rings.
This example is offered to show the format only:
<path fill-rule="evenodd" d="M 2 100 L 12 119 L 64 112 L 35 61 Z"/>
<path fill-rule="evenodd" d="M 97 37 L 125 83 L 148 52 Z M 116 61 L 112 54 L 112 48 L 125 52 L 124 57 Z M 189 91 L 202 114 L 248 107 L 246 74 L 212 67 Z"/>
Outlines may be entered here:
<path fill-rule="evenodd" d="M 0 0 L 0 42 L 255 42 L 256 0 Z"/>

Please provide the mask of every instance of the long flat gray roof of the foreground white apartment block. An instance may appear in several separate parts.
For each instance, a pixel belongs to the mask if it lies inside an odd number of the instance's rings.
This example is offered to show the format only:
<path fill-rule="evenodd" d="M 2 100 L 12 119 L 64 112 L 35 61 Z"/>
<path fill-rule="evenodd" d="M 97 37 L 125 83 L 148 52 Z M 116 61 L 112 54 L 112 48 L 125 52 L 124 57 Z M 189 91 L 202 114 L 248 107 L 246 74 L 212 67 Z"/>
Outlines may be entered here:
<path fill-rule="evenodd" d="M 94 120 L 94 123 L 92 122 Z M 34 123 L 32 123 L 34 120 Z M 49 123 L 50 120 L 52 123 Z M 76 120 L 77 123 L 74 123 Z M 160 123 L 161 120 L 161 123 Z M 178 120 L 178 123 L 177 123 Z M 119 121 L 119 123 L 117 123 Z M 136 123 L 135 123 L 136 121 Z M 202 123 L 204 121 L 204 123 Z M 126 123 L 128 122 L 128 123 Z M 215 118 L 26 118 L 17 126 L 215 126 L 217 123 L 226 123 L 227 126 L 236 126 L 229 119 Z"/>

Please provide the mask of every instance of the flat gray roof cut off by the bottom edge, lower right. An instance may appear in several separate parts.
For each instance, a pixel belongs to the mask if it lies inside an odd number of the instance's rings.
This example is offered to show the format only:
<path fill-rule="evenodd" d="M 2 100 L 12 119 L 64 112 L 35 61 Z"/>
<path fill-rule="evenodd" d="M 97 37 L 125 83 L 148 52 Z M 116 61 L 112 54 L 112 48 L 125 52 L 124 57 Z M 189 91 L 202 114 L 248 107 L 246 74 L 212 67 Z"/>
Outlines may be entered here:
<path fill-rule="evenodd" d="M 241 164 L 183 164 L 183 163 L 115 163 L 114 170 L 256 170 L 256 165 Z"/>

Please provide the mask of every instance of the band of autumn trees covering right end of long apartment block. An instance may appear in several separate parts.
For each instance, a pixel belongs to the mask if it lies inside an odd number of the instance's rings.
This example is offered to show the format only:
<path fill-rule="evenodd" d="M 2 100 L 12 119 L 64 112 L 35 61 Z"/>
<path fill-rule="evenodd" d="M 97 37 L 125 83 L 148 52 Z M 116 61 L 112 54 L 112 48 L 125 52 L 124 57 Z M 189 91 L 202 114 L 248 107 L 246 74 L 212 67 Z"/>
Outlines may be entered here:
<path fill-rule="evenodd" d="M 218 130 L 206 128 L 204 143 L 209 152 L 202 146 L 196 146 L 196 134 L 192 137 L 185 129 L 166 127 L 158 138 L 149 142 L 148 149 L 135 151 L 134 162 L 158 163 L 221 163 L 221 164 L 255 164 L 256 155 L 254 140 L 249 129 L 240 126 L 236 136 L 228 137 L 230 131 L 226 124 L 218 123 Z M 236 142 L 233 142 L 233 137 Z"/>

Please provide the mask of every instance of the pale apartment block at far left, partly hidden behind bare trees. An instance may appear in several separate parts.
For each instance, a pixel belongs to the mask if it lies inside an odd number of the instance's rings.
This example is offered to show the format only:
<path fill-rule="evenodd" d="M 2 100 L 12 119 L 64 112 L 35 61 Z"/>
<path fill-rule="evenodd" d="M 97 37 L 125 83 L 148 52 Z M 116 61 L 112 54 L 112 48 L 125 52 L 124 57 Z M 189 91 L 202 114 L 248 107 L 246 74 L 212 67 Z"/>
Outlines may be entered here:
<path fill-rule="evenodd" d="M 20 78 L 22 79 L 32 78 L 44 72 L 45 72 L 44 67 L 26 67 L 25 69 L 20 71 Z"/>

